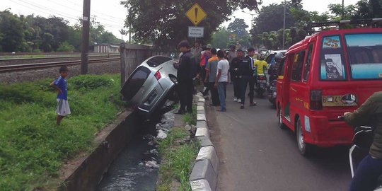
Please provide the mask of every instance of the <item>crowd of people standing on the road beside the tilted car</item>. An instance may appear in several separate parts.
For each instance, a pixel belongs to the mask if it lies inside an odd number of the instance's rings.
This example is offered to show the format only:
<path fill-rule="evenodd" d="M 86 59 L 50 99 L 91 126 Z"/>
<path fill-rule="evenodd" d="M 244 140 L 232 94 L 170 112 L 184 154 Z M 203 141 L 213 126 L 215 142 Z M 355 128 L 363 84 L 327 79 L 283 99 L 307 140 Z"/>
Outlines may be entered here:
<path fill-rule="evenodd" d="M 253 59 L 255 50 L 249 48 L 245 56 L 243 50 L 236 50 L 234 45 L 230 46 L 230 52 L 225 54 L 224 50 L 216 50 L 211 45 L 200 47 L 195 42 L 190 48 L 187 41 L 182 41 L 178 45 L 182 56 L 174 66 L 178 69 L 178 94 L 180 97 L 180 110 L 178 114 L 192 112 L 192 94 L 194 88 L 192 80 L 196 74 L 192 75 L 192 67 L 197 67 L 199 80 L 204 83 L 203 96 L 211 92 L 212 106 L 220 106 L 218 111 L 225 112 L 226 109 L 226 86 L 231 76 L 233 83 L 234 101 L 241 103 L 241 109 L 245 108 L 245 92 L 249 86 L 250 106 L 255 106 L 253 101 L 257 74 L 264 74 L 267 69 L 267 62 L 264 57 Z M 229 74 L 229 75 L 228 75 Z"/>

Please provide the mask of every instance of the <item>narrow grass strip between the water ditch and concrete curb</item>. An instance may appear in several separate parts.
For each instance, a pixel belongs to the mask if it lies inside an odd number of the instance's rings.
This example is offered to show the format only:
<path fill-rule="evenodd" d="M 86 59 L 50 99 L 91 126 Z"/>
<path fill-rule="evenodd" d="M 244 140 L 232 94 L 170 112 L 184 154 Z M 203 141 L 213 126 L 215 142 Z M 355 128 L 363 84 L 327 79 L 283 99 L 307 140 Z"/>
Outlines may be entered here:
<path fill-rule="evenodd" d="M 196 106 L 193 107 L 193 111 L 192 114 L 184 115 L 183 120 L 195 125 Z M 158 150 L 162 162 L 156 190 L 165 191 L 175 187 L 178 187 L 178 190 L 191 190 L 189 178 L 200 144 L 196 139 L 185 141 L 189 136 L 190 132 L 185 127 L 173 127 L 167 138 L 159 141 Z"/>

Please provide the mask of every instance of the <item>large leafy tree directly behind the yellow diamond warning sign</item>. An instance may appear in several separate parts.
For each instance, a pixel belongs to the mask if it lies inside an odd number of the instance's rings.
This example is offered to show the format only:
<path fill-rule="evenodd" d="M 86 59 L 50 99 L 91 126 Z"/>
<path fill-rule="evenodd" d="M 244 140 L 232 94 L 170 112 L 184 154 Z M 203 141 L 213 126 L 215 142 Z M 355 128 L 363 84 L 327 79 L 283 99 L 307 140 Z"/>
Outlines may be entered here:
<path fill-rule="evenodd" d="M 198 3 L 207 13 L 207 18 L 199 26 L 204 27 L 202 42 L 210 40 L 212 32 L 221 23 L 228 20 L 237 7 L 257 8 L 256 0 L 124 0 L 122 5 L 127 7 L 128 15 L 125 26 L 131 25 L 134 40 L 151 40 L 158 48 L 175 47 L 180 40 L 187 38 L 187 28 L 192 25 L 185 12 L 194 3 Z"/>

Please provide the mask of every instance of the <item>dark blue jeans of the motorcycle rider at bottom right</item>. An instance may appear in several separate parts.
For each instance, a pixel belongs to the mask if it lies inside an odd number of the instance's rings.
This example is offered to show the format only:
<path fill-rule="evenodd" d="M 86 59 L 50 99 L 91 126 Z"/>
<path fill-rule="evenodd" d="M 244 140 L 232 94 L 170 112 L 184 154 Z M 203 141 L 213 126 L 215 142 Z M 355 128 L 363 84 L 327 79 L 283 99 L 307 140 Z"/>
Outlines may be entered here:
<path fill-rule="evenodd" d="M 367 155 L 359 163 L 354 173 L 349 191 L 374 190 L 377 185 L 378 176 L 382 174 L 382 158 L 371 158 Z"/>

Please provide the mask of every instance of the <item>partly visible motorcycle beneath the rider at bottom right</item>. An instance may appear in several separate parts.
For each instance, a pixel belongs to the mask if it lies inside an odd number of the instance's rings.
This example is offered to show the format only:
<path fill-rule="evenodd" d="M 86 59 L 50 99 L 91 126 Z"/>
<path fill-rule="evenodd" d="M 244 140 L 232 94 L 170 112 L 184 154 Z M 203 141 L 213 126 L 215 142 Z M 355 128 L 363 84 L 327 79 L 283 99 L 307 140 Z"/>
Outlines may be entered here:
<path fill-rule="evenodd" d="M 338 117 L 343 120 L 343 116 Z M 373 129 L 367 126 L 359 126 L 354 129 L 353 146 L 349 149 L 349 164 L 352 178 L 362 159 L 369 154 L 369 149 L 373 143 Z M 374 191 L 382 191 L 382 174 L 379 175 Z"/>

